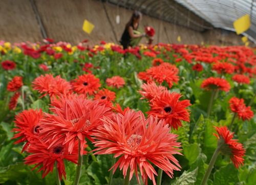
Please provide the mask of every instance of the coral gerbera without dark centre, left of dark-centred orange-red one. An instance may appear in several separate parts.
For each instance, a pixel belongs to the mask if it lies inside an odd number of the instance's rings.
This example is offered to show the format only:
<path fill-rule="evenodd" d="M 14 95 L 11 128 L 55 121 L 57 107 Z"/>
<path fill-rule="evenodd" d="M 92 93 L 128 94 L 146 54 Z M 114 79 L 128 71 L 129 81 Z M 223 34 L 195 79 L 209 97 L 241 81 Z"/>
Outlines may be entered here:
<path fill-rule="evenodd" d="M 46 95 L 50 97 L 65 95 L 72 89 L 70 83 L 65 79 L 62 79 L 60 76 L 53 77 L 50 74 L 37 77 L 32 82 L 32 87 L 34 90 L 38 90 L 40 94 L 44 94 L 41 97 Z"/>

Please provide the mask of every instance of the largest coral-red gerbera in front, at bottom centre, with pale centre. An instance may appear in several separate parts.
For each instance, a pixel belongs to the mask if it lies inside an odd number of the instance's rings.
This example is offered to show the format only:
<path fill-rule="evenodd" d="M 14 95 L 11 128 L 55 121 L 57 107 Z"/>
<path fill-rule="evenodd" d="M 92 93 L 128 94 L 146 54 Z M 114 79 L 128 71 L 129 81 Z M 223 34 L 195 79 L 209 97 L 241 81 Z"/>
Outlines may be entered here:
<path fill-rule="evenodd" d="M 119 167 L 123 176 L 135 173 L 139 182 L 138 171 L 147 184 L 149 177 L 156 185 L 154 174 L 157 172 L 152 164 L 162 169 L 169 177 L 173 178 L 174 170 L 180 170 L 178 160 L 173 156 L 180 154 L 176 134 L 170 133 L 170 128 L 164 121 L 150 117 L 145 120 L 141 111 L 129 110 L 124 115 L 117 113 L 113 119 L 104 118 L 103 125 L 94 133 L 95 154 L 115 154 L 119 157 L 111 168 L 113 173 Z M 151 164 L 152 163 L 152 164 Z M 130 168 L 130 174 L 127 170 Z M 140 182 L 139 182 L 140 183 Z"/>

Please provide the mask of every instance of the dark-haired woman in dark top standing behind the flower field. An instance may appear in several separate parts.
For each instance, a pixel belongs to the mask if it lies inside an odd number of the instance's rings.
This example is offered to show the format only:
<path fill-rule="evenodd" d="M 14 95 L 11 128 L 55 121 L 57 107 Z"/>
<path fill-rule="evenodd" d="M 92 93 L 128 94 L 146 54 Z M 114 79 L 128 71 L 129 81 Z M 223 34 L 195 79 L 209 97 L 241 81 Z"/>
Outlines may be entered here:
<path fill-rule="evenodd" d="M 127 49 L 131 46 L 131 39 L 132 38 L 139 38 L 145 36 L 143 34 L 134 34 L 133 31 L 137 30 L 139 27 L 139 21 L 141 20 L 142 14 L 139 11 L 134 11 L 131 19 L 127 22 L 124 32 L 122 34 L 120 43 L 123 45 L 123 49 Z"/>

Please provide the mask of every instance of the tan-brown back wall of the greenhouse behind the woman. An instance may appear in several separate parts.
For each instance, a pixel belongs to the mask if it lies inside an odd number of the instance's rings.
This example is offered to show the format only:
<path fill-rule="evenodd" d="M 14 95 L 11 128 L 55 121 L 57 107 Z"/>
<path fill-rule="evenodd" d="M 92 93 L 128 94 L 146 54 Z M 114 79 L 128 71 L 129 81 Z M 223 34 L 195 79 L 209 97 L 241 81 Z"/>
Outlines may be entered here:
<path fill-rule="evenodd" d="M 90 44 L 99 43 L 100 40 L 117 43 L 124 25 L 132 14 L 132 10 L 95 0 L 1 0 L 0 40 L 10 42 L 42 40 L 32 3 L 37 9 L 48 37 L 55 41 L 68 41 L 74 44 L 84 39 L 89 39 Z M 118 14 L 120 24 L 116 24 Z M 82 31 L 84 19 L 95 25 L 90 35 Z M 144 15 L 140 28 L 143 29 L 146 25 L 155 28 L 155 43 L 178 43 L 177 37 L 180 36 L 181 43 L 186 44 L 202 42 L 216 45 L 243 44 L 240 36 L 220 29 L 201 33 Z"/>

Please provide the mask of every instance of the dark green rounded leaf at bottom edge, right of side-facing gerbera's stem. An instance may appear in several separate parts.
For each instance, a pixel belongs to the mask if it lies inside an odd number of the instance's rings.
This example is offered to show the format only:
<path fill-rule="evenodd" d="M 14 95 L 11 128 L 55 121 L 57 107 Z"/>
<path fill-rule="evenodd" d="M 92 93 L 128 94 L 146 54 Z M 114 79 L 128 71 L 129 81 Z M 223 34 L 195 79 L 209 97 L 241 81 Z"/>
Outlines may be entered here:
<path fill-rule="evenodd" d="M 223 185 L 223 184 L 235 184 L 238 182 L 238 170 L 232 165 L 229 164 L 225 167 L 220 168 L 220 170 L 214 173 L 214 184 Z"/>

